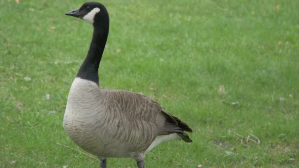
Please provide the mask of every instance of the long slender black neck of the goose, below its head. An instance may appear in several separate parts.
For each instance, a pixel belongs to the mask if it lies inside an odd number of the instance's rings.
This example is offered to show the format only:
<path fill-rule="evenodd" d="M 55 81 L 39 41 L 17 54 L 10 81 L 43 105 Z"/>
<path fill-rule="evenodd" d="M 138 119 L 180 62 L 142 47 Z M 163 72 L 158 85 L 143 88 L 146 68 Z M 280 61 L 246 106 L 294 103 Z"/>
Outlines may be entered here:
<path fill-rule="evenodd" d="M 109 20 L 108 24 L 93 25 L 90 49 L 78 71 L 77 77 L 92 81 L 99 85 L 98 69 L 105 49 L 108 31 Z"/>

